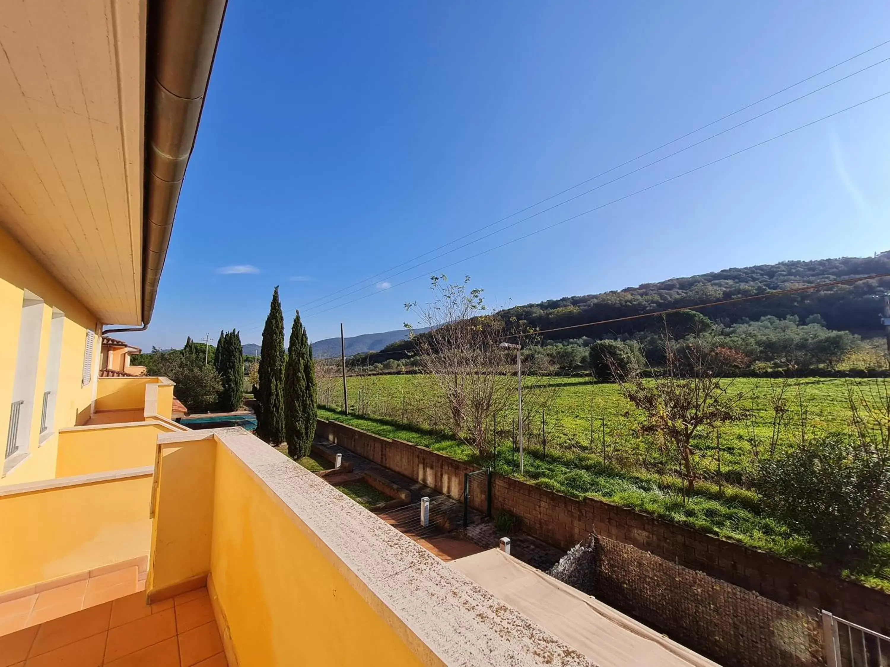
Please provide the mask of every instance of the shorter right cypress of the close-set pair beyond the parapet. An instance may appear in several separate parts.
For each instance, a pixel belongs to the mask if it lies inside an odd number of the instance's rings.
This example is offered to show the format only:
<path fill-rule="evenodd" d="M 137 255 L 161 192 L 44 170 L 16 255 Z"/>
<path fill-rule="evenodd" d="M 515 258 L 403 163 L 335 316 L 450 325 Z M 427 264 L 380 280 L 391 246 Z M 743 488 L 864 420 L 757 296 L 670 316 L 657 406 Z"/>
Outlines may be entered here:
<path fill-rule="evenodd" d="M 300 311 L 294 316 L 287 345 L 287 364 L 284 371 L 284 428 L 287 454 L 294 459 L 308 456 L 315 437 L 315 369 L 312 348 L 306 329 L 300 321 Z"/>

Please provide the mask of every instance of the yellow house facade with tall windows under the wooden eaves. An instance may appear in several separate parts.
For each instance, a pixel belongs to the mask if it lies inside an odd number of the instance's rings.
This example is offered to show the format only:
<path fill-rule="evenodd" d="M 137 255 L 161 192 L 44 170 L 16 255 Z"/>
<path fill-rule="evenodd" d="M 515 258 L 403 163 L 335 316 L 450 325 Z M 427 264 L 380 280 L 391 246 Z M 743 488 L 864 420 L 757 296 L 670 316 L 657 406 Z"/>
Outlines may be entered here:
<path fill-rule="evenodd" d="M 0 229 L 0 458 L 5 456 L 6 435 L 9 427 L 12 385 L 19 350 L 19 329 L 24 291 L 36 294 L 44 301 L 40 351 L 37 364 L 34 408 L 28 458 L 0 478 L 0 486 L 46 478 L 55 469 L 53 438 L 44 436 L 38 446 L 40 408 L 43 405 L 46 360 L 49 353 L 50 320 L 53 308 L 65 314 L 62 328 L 59 386 L 56 394 L 54 423 L 48 432 L 61 427 L 85 423 L 90 417 L 94 382 L 83 386 L 81 372 L 84 363 L 86 331 L 101 330 L 96 317 L 83 304 L 51 277 L 3 229 Z M 99 367 L 99 336 L 93 353 L 93 378 Z M 2 470 L 0 470 L 2 472 Z M 52 474 L 49 475 L 52 477 Z"/>

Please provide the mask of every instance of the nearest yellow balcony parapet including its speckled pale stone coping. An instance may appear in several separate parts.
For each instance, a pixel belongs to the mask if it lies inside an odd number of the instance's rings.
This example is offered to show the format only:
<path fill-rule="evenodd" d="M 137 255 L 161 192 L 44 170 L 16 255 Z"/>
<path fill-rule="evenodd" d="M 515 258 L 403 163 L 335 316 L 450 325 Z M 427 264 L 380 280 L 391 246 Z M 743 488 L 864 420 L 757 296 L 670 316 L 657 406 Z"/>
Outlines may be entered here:
<path fill-rule="evenodd" d="M 230 665 L 589 664 L 241 429 L 158 437 L 149 599 L 206 585 Z"/>

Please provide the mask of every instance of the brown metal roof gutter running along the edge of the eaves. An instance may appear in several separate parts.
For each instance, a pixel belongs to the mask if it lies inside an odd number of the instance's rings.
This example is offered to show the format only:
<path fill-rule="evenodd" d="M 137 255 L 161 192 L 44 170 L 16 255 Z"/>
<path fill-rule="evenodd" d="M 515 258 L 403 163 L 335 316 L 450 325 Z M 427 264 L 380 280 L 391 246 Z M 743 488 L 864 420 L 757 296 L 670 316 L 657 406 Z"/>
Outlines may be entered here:
<path fill-rule="evenodd" d="M 226 0 L 150 0 L 146 44 L 142 326 L 158 297 L 182 179 L 195 147 Z"/>

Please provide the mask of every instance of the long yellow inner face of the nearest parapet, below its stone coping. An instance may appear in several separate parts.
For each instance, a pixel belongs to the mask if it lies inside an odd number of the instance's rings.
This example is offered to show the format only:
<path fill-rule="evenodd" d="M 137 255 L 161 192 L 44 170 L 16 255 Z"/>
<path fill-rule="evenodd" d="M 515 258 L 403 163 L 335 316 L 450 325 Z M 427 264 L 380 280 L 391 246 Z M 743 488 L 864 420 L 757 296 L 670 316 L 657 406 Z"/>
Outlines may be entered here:
<path fill-rule="evenodd" d="M 423 664 L 222 444 L 214 496 L 211 568 L 241 667 Z"/>

